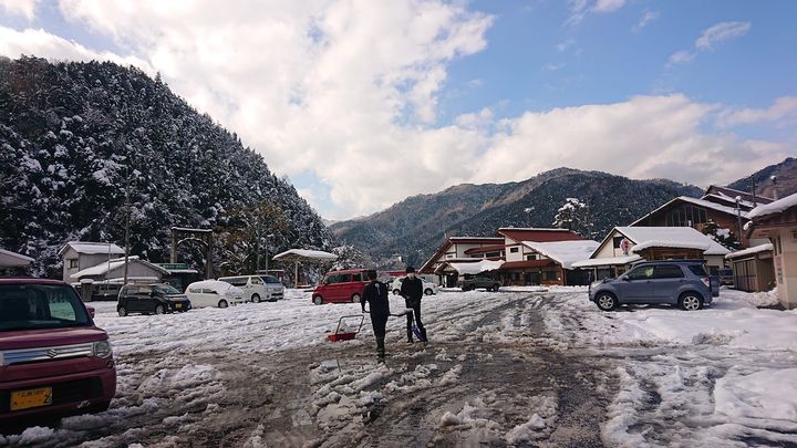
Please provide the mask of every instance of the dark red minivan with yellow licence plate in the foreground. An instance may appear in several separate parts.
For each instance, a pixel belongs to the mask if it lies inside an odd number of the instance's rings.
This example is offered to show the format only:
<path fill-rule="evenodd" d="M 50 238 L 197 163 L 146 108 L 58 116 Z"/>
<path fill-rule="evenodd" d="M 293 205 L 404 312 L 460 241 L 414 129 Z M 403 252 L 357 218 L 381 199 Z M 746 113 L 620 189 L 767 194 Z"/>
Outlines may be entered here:
<path fill-rule="evenodd" d="M 0 279 L 0 425 L 108 408 L 116 367 L 92 317 L 62 281 Z"/>

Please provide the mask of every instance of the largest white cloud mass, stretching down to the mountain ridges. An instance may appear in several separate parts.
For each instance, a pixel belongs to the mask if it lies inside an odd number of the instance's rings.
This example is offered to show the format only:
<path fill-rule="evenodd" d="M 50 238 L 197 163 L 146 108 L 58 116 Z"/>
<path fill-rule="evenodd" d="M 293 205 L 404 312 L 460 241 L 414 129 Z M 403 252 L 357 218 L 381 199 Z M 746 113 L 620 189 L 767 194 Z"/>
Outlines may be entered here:
<path fill-rule="evenodd" d="M 708 184 L 789 154 L 783 144 L 702 126 L 716 123 L 722 106 L 683 95 L 504 119 L 484 108 L 436 125 L 449 63 L 487 45 L 491 19 L 463 4 L 252 1 L 208 2 L 200 10 L 188 2 L 63 0 L 69 20 L 111 37 L 131 55 L 95 52 L 42 30 L 2 28 L 0 53 L 111 59 L 159 71 L 278 174 L 318 178 L 322 187 L 300 191 L 329 218 L 558 166 Z"/>

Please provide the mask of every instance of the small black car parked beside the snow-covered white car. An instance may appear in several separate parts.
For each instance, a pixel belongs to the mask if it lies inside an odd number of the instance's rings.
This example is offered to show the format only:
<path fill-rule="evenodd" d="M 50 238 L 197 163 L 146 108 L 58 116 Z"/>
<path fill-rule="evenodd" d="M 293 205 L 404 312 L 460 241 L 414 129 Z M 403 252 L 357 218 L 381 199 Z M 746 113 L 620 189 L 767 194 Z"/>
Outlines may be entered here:
<path fill-rule="evenodd" d="M 121 316 L 130 313 L 186 312 L 190 309 L 188 296 L 166 283 L 126 284 L 122 286 L 116 304 L 116 311 Z"/>

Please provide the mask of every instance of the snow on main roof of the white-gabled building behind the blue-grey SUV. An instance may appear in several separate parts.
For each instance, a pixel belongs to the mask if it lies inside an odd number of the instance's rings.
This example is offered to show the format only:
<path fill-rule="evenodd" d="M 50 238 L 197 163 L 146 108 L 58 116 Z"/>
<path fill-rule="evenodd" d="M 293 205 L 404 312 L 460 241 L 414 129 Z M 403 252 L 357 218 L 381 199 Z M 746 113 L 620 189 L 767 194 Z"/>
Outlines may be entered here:
<path fill-rule="evenodd" d="M 701 250 L 705 248 L 706 256 L 726 256 L 731 253 L 726 247 L 691 227 L 615 227 L 614 229 L 636 244 L 634 246 L 636 250 L 653 247 L 654 244 L 649 244 L 640 248 L 641 244 L 651 241 L 659 243 L 660 246 L 658 247 L 694 248 Z M 681 246 L 674 246 L 679 243 Z"/>

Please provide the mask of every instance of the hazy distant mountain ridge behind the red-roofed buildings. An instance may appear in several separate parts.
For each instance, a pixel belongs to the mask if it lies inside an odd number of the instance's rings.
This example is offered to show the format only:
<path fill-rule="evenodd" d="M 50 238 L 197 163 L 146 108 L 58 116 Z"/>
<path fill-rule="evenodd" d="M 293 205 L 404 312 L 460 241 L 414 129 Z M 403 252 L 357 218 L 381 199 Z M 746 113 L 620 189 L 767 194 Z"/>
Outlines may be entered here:
<path fill-rule="evenodd" d="M 420 264 L 446 236 L 494 236 L 500 227 L 551 227 L 567 198 L 589 206 L 592 232 L 604 235 L 676 196 L 702 190 L 665 179 L 632 180 L 599 171 L 558 168 L 520 183 L 459 185 L 414 196 L 332 232 L 389 264 L 395 256 Z M 526 211 L 528 210 L 528 211 Z"/>

